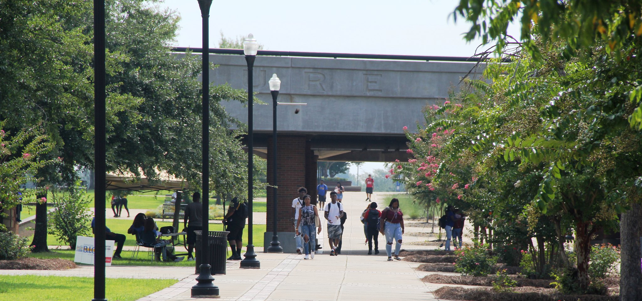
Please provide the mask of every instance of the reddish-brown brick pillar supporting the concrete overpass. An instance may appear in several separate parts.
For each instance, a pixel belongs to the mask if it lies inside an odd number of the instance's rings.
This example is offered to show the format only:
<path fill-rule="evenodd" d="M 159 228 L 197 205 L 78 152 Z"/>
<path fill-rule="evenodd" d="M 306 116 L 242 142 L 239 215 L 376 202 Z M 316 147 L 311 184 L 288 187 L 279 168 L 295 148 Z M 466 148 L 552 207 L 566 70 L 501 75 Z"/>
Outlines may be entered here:
<path fill-rule="evenodd" d="M 294 218 L 292 200 L 299 196 L 297 190 L 306 184 L 306 137 L 299 135 L 279 135 L 277 137 L 277 185 L 278 208 L 277 230 L 292 232 L 290 221 Z M 272 184 L 272 139 L 268 140 L 268 183 Z M 309 187 L 306 187 L 309 190 Z M 272 232 L 273 193 L 267 190 L 268 208 L 267 232 Z M 271 236 L 270 236 L 271 237 Z M 268 241 L 269 242 L 269 241 Z M 269 245 L 269 243 L 267 243 Z"/>

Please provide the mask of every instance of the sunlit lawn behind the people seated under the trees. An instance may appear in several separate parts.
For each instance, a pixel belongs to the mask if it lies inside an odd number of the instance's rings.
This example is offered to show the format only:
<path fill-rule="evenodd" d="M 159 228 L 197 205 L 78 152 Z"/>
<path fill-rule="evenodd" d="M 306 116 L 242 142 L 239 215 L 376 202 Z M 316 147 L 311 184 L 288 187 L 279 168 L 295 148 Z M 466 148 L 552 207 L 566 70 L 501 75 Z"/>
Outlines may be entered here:
<path fill-rule="evenodd" d="M 160 227 L 164 226 L 171 226 L 171 221 L 161 221 L 161 219 L 154 219 L 156 221 L 156 225 Z M 127 220 L 127 219 L 113 219 L 113 218 L 108 218 L 105 221 L 107 227 L 109 230 L 111 230 L 114 233 L 120 233 L 120 234 L 125 234 L 126 240 L 125 240 L 125 246 L 135 246 L 135 239 L 134 236 L 127 234 L 127 229 L 132 225 L 132 221 Z M 183 228 L 183 223 L 181 221 L 180 227 L 178 230 L 182 230 Z M 263 232 L 265 232 L 265 225 L 254 225 L 254 235 L 253 235 L 253 243 L 254 246 L 263 246 Z M 221 224 L 209 224 L 209 230 L 210 231 L 222 231 L 223 230 L 223 225 Z M 89 234 L 89 236 L 92 236 Z M 32 239 L 33 236 L 29 237 L 29 239 Z M 243 230 L 243 242 L 247 241 L 247 225 L 245 226 L 245 230 Z M 62 241 L 58 241 L 58 239 L 53 236 L 52 234 L 47 235 L 47 243 L 49 245 L 62 245 L 64 246 L 65 243 Z M 125 256 L 123 256 L 125 257 Z"/>

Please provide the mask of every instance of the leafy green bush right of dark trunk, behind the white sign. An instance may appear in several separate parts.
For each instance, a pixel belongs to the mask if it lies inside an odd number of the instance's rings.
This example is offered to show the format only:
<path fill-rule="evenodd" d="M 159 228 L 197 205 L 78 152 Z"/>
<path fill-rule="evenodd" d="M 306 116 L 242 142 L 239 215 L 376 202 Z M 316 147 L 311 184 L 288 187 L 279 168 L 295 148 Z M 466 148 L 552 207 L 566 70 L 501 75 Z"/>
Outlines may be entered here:
<path fill-rule="evenodd" d="M 54 210 L 48 215 L 49 233 L 64 241 L 70 248 L 76 248 L 76 237 L 90 233 L 92 213 L 89 211 L 89 196 L 76 185 L 64 190 L 51 191 Z"/>

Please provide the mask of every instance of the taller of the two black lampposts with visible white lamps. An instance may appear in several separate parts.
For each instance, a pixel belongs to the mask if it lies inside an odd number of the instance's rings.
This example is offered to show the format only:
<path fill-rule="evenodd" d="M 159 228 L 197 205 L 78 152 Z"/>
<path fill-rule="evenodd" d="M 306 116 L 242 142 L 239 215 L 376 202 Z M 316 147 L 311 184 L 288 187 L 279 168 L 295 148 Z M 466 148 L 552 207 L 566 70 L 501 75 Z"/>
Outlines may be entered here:
<path fill-rule="evenodd" d="M 254 199 L 253 188 L 254 188 L 254 123 L 252 121 L 252 107 L 254 100 L 254 88 L 253 81 L 253 70 L 254 70 L 254 59 L 256 59 L 256 53 L 259 50 L 259 43 L 254 39 L 254 35 L 250 33 L 243 42 L 243 53 L 245 53 L 245 61 L 247 62 L 247 202 L 248 202 L 248 230 L 247 230 L 247 252 L 245 252 L 245 259 L 241 261 L 240 268 L 250 268 L 257 269 L 261 268 L 261 262 L 256 259 L 256 253 L 254 252 L 254 245 L 252 245 L 252 199 Z"/>

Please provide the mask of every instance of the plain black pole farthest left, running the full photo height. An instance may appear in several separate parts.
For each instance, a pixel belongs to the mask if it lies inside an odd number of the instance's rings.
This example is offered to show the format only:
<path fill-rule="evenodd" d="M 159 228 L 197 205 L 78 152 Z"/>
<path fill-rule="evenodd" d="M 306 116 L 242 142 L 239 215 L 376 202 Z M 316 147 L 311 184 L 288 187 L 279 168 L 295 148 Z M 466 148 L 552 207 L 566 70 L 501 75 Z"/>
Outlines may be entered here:
<path fill-rule="evenodd" d="M 105 1 L 94 0 L 94 301 L 105 298 L 105 173 L 107 172 L 105 133 Z"/>

